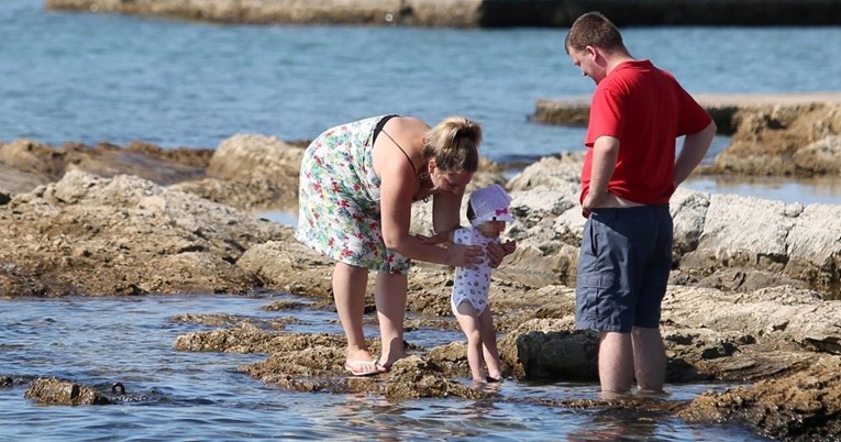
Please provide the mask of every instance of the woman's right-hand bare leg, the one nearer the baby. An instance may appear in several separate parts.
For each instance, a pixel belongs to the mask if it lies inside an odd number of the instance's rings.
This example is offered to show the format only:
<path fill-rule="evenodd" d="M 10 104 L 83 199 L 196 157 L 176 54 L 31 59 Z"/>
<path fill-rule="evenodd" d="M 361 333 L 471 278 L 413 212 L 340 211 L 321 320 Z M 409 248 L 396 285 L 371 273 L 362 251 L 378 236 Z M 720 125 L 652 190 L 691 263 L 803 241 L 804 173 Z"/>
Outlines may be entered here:
<path fill-rule="evenodd" d="M 403 347 L 403 318 L 406 316 L 406 275 L 379 272 L 374 299 L 377 303 L 379 335 L 383 339 L 383 355 L 379 365 L 390 368 L 397 360 L 406 357 Z"/>

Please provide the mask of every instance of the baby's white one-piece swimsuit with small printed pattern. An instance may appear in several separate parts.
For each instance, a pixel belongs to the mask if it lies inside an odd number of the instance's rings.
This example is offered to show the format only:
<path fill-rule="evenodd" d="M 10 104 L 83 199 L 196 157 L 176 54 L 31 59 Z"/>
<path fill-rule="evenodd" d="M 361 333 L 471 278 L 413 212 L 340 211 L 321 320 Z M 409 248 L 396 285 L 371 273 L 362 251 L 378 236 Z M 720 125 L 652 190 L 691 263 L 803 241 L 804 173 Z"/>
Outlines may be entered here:
<path fill-rule="evenodd" d="M 484 248 L 491 241 L 499 243 L 498 237 L 487 237 L 475 228 L 461 228 L 453 233 L 453 242 L 456 244 L 480 245 Z M 479 313 L 485 311 L 485 308 L 488 307 L 490 270 L 490 259 L 487 256 L 482 264 L 477 265 L 475 270 L 466 267 L 455 268 L 453 296 L 450 298 L 453 314 L 464 301 L 471 302 Z"/>

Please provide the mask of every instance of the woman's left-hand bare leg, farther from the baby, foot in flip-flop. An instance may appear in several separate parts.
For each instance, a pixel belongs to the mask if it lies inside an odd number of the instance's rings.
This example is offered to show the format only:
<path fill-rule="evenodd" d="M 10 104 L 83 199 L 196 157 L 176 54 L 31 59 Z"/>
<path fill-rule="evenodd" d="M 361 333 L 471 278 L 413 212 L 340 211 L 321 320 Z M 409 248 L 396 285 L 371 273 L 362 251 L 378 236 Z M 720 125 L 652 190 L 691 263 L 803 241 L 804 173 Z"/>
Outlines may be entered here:
<path fill-rule="evenodd" d="M 347 363 L 355 363 L 354 371 L 376 369 L 376 364 L 359 364 L 359 361 L 374 361 L 362 331 L 362 317 L 365 313 L 365 288 L 368 284 L 368 269 L 336 263 L 333 268 L 333 298 L 344 335 L 347 338 Z"/>

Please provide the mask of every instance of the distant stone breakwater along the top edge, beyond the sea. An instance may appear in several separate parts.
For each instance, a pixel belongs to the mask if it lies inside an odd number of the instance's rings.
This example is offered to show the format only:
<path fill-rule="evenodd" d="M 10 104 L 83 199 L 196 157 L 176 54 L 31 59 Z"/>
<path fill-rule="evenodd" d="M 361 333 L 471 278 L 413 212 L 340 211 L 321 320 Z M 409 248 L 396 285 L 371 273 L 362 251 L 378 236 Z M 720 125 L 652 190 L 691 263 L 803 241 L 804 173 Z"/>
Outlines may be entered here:
<path fill-rule="evenodd" d="M 587 11 L 600 11 L 619 26 L 841 24 L 841 0 L 45 0 L 45 5 L 252 24 L 566 27 Z"/>

